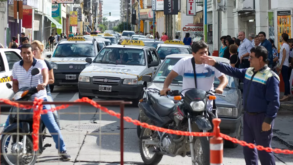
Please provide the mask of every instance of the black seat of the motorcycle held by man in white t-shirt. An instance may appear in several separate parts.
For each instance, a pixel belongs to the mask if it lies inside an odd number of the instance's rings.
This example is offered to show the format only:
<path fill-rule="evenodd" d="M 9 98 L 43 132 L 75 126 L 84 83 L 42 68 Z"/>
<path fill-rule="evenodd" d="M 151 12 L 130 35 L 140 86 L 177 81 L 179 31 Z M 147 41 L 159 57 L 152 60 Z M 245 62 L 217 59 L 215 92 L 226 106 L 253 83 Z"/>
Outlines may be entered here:
<path fill-rule="evenodd" d="M 153 108 L 161 117 L 170 115 L 170 113 L 177 108 L 173 100 L 165 96 L 160 96 L 158 93 L 150 94 L 149 99 Z"/>

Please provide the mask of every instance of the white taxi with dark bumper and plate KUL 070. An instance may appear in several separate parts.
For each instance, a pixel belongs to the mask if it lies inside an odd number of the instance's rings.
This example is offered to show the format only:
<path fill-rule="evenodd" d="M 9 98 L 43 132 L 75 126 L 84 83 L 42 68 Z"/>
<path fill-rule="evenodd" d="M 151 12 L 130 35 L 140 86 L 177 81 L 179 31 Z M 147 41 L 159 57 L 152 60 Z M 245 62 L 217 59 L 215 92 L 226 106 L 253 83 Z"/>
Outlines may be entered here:
<path fill-rule="evenodd" d="M 55 78 L 50 85 L 51 92 L 54 86 L 77 85 L 79 73 L 89 65 L 85 59 L 94 59 L 99 50 L 96 40 L 86 41 L 83 37 L 70 37 L 56 45 L 53 55 L 46 55 Z"/>

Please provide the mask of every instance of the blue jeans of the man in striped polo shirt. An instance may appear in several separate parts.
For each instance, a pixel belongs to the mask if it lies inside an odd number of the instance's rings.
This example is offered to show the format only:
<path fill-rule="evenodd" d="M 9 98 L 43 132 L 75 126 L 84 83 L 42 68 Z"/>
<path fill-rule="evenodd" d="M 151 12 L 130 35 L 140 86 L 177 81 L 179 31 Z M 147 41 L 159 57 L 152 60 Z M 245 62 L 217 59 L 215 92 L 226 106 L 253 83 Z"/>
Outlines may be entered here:
<path fill-rule="evenodd" d="M 44 98 L 43 100 L 47 101 L 47 98 Z M 51 107 L 50 107 L 50 105 L 43 105 L 43 109 L 51 109 Z M 63 141 L 63 137 L 62 137 L 60 128 L 58 127 L 58 125 L 54 119 L 53 113 L 49 111 L 49 112 L 47 112 L 47 114 L 41 115 L 41 119 L 42 119 L 43 123 L 45 124 L 45 126 L 48 128 L 50 134 L 52 135 L 52 138 L 56 144 L 55 147 L 58 150 L 58 152 L 65 151 L 66 150 L 65 143 Z M 9 125 L 9 115 L 6 120 L 5 127 L 7 127 L 8 125 Z M 10 140 L 10 138 L 7 139 L 7 142 L 6 142 L 7 146 L 9 144 L 9 140 Z"/>

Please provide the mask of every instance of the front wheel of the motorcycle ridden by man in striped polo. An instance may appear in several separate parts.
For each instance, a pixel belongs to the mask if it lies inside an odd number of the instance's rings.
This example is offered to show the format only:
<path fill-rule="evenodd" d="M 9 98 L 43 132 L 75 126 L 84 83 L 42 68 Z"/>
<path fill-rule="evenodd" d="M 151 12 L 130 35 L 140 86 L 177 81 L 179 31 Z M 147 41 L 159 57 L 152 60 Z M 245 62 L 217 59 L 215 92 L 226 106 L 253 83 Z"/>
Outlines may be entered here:
<path fill-rule="evenodd" d="M 11 134 L 5 134 L 1 138 L 1 153 L 2 153 L 1 160 L 6 165 L 14 165 L 14 163 L 12 163 L 8 158 L 7 147 L 5 146 L 5 142 L 7 141 L 9 136 L 11 137 L 12 134 L 16 135 L 17 133 L 15 131 L 9 132 L 9 133 L 11 133 Z M 22 139 L 22 135 L 19 135 L 19 139 L 20 140 Z M 11 141 L 11 139 L 10 139 L 10 141 Z M 37 162 L 37 152 L 33 150 L 33 139 L 31 137 L 31 135 L 27 135 L 26 144 L 27 144 L 26 146 L 29 145 L 29 147 L 31 148 L 31 154 L 32 154 L 31 160 L 29 161 L 29 163 L 26 163 L 26 164 L 27 165 L 34 165 Z M 29 152 L 29 151 L 27 150 L 27 152 Z M 17 159 L 19 159 L 19 155 L 17 155 Z M 16 164 L 17 164 L 17 162 L 16 162 Z"/>

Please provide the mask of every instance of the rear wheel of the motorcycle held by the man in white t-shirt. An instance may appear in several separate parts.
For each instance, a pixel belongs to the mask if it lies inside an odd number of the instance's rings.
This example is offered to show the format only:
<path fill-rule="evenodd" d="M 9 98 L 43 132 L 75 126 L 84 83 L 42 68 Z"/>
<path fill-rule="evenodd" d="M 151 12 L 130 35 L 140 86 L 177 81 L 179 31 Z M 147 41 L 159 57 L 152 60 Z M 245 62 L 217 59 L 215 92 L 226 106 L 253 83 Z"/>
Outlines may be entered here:
<path fill-rule="evenodd" d="M 148 123 L 149 124 L 149 123 Z M 140 136 L 149 136 L 152 134 L 152 130 L 148 128 L 142 128 Z M 146 145 L 142 142 L 142 139 L 139 141 L 139 150 L 140 150 L 140 156 L 143 160 L 143 162 L 147 165 L 156 165 L 160 163 L 160 161 L 163 158 L 162 154 L 155 153 L 153 150 L 155 150 L 155 147 L 149 147 L 149 145 Z M 146 154 L 153 154 L 153 156 L 146 156 Z"/>

